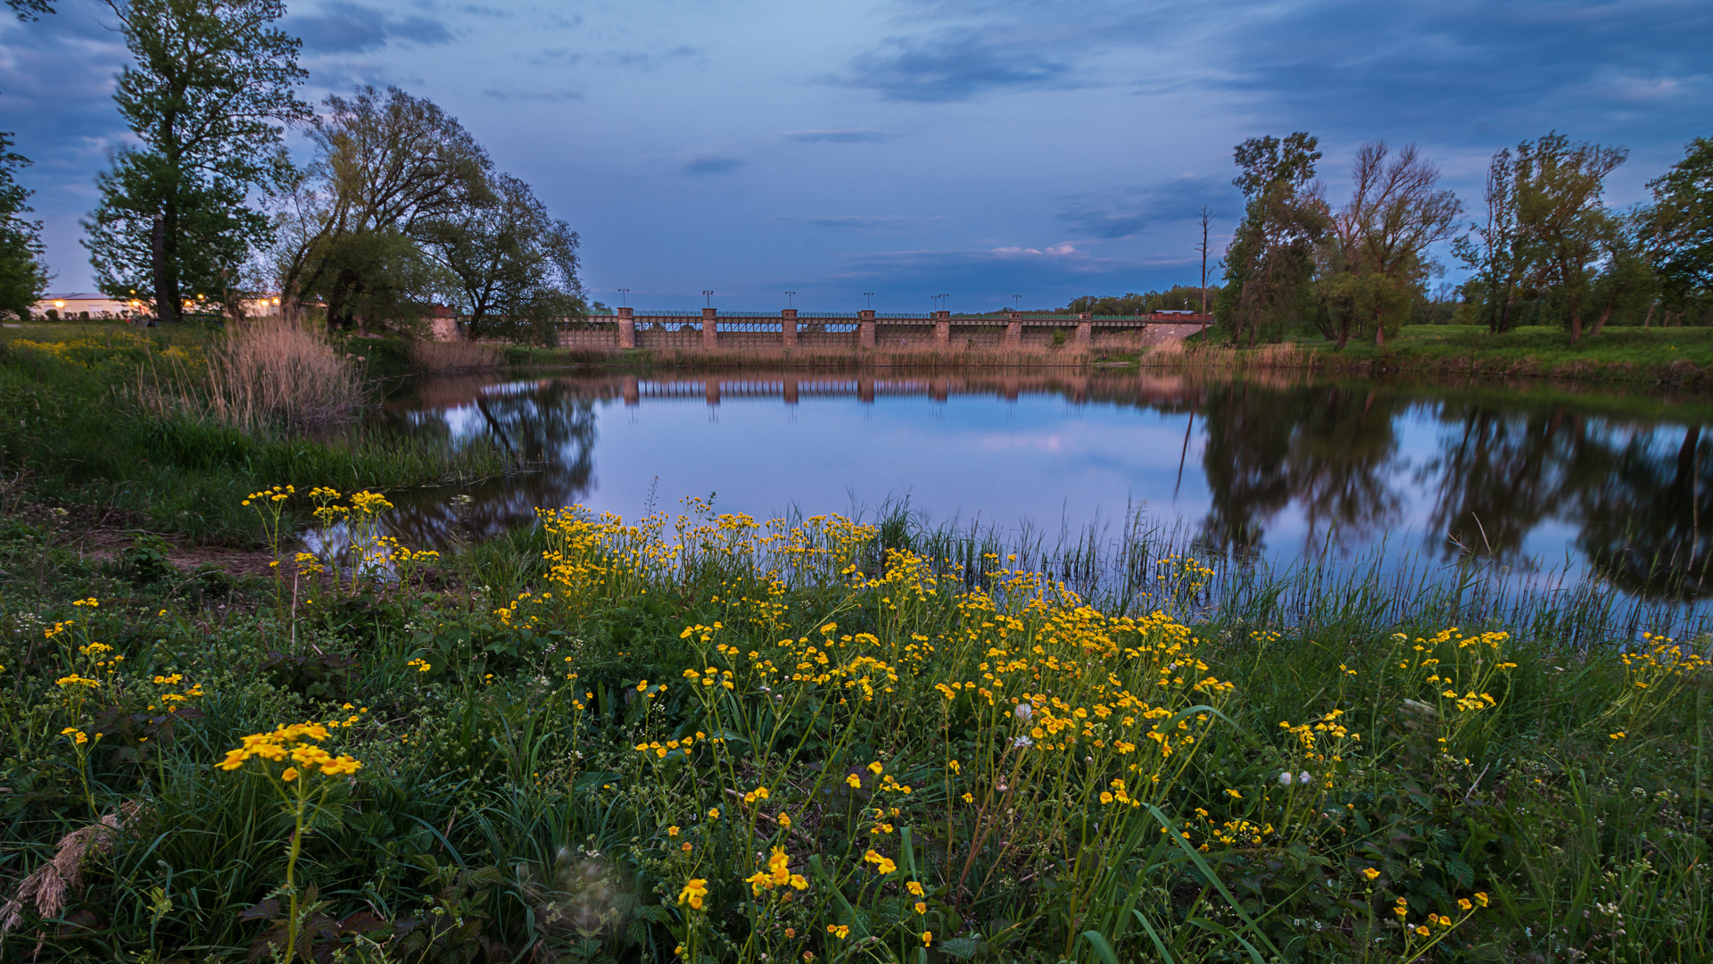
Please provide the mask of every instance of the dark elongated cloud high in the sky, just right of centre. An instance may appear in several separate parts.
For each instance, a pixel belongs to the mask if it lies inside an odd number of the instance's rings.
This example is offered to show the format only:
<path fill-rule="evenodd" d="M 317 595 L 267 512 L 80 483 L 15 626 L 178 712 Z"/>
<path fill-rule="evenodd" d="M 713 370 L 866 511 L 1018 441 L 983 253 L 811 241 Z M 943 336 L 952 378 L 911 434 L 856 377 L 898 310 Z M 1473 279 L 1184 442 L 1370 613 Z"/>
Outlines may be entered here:
<path fill-rule="evenodd" d="M 845 82 L 889 101 L 944 103 L 1000 89 L 1062 87 L 1069 72 L 1038 45 L 1000 46 L 975 31 L 946 31 L 930 39 L 882 41 L 851 62 Z"/>

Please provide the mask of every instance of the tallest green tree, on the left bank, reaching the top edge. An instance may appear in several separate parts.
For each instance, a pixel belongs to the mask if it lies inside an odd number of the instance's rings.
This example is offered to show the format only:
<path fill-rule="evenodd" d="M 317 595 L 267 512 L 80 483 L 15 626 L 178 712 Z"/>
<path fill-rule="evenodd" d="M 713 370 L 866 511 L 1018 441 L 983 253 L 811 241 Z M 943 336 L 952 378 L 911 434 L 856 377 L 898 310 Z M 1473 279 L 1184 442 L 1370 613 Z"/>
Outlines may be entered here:
<path fill-rule="evenodd" d="M 108 0 L 135 58 L 113 99 L 140 139 L 98 180 L 84 221 L 98 286 L 176 321 L 185 293 L 238 297 L 267 218 L 248 194 L 289 180 L 284 127 L 308 117 L 279 0 Z"/>

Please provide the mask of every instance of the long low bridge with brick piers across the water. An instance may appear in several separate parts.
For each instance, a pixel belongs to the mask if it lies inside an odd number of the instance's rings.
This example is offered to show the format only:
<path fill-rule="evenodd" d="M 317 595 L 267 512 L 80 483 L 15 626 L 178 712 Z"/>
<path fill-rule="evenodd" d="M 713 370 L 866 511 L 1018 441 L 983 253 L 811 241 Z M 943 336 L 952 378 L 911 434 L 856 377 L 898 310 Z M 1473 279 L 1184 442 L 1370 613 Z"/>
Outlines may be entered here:
<path fill-rule="evenodd" d="M 565 348 L 654 350 L 860 350 L 920 352 L 1072 348 L 1141 348 L 1187 338 L 1213 324 L 1208 316 L 1155 312 L 1144 316 L 1083 314 L 879 314 L 874 310 L 803 314 L 730 314 L 719 309 L 651 312 L 615 309 L 560 329 Z"/>

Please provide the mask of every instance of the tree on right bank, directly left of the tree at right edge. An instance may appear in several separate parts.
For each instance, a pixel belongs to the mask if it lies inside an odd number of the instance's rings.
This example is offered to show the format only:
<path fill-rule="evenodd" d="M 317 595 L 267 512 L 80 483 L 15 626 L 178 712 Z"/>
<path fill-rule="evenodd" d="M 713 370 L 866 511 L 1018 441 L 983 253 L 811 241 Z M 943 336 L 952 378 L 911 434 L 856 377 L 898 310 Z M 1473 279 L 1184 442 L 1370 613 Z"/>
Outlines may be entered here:
<path fill-rule="evenodd" d="M 1571 144 L 1562 134 L 1516 148 L 1516 221 L 1525 283 L 1555 292 L 1569 314 L 1571 343 L 1583 336 L 1595 262 L 1602 257 L 1605 177 L 1624 163 L 1624 148 Z"/>

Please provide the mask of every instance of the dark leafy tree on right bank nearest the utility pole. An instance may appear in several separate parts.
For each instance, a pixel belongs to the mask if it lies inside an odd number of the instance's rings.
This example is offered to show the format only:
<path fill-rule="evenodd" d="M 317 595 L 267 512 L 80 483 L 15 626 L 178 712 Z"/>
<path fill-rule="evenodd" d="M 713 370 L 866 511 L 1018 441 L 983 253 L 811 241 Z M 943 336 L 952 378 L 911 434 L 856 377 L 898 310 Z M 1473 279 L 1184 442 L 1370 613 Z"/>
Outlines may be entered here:
<path fill-rule="evenodd" d="M 1319 141 L 1307 132 L 1250 137 L 1233 158 L 1242 173 L 1237 185 L 1247 204 L 1244 220 L 1225 252 L 1225 288 L 1220 319 L 1232 324 L 1232 343 L 1247 333 L 1249 345 L 1266 328 L 1276 333 L 1300 317 L 1312 297 L 1314 250 L 1326 232 L 1326 202 L 1314 182 Z"/>

